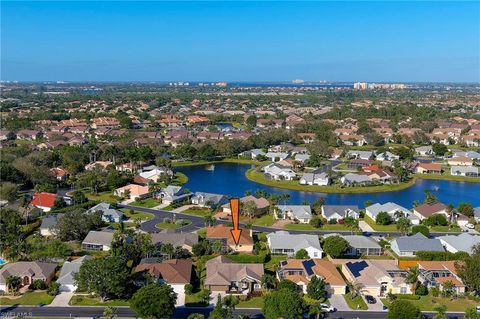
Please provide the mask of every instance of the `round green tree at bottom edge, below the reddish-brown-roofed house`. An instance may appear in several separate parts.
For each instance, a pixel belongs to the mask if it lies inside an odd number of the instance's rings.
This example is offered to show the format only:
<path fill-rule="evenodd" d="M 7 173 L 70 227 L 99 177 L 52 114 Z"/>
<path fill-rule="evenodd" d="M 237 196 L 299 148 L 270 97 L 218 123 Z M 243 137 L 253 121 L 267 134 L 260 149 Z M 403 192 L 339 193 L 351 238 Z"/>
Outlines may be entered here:
<path fill-rule="evenodd" d="M 171 318 L 177 294 L 170 285 L 150 284 L 140 288 L 130 300 L 130 307 L 142 318 Z"/>

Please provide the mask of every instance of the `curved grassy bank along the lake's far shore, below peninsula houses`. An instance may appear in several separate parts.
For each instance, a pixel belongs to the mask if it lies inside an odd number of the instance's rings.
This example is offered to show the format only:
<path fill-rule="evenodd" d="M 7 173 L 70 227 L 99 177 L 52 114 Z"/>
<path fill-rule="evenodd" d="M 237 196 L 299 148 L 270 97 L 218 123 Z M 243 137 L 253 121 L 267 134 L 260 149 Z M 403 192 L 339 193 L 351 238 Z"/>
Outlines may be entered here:
<path fill-rule="evenodd" d="M 277 188 L 285 188 L 298 191 L 317 192 L 317 193 L 342 193 L 342 194 L 361 194 L 361 193 L 380 193 L 398 191 L 412 186 L 415 180 L 412 179 L 405 183 L 392 185 L 377 185 L 377 186 L 358 186 L 358 187 L 343 187 L 341 185 L 318 186 L 318 185 L 300 185 L 298 180 L 293 181 L 276 181 L 268 179 L 263 172 L 257 171 L 255 168 L 247 170 L 245 173 L 247 179 Z"/>

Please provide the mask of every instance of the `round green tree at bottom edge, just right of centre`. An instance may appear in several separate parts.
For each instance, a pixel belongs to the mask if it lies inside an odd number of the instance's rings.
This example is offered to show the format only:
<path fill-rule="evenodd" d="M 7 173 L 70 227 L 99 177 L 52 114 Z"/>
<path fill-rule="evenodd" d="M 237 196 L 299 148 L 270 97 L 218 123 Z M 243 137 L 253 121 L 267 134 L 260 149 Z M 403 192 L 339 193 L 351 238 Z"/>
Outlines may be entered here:
<path fill-rule="evenodd" d="M 281 289 L 268 294 L 263 305 L 266 319 L 302 318 L 306 310 L 303 298 L 296 292 Z"/>

